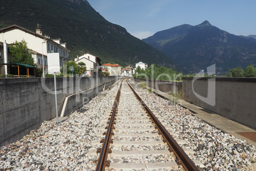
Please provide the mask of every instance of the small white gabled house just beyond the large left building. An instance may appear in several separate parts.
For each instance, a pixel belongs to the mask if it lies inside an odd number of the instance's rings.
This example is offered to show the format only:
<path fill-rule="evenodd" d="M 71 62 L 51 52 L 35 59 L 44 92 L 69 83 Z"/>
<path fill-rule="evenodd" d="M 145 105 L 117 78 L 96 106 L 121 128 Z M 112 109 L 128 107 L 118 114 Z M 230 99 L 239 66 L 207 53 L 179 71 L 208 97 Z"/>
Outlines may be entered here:
<path fill-rule="evenodd" d="M 86 75 L 92 76 L 93 72 L 97 72 L 99 70 L 99 65 L 101 65 L 101 59 L 89 53 L 85 53 L 84 55 L 75 58 L 76 64 L 79 62 L 85 63 L 86 66 Z"/>

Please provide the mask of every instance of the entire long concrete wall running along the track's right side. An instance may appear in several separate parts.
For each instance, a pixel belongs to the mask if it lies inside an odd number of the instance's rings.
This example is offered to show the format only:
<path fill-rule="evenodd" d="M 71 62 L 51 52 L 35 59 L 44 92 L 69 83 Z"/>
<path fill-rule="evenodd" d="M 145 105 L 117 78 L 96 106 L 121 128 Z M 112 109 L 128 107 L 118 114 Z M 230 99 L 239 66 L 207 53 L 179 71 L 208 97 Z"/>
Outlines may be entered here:
<path fill-rule="evenodd" d="M 187 102 L 256 129 L 256 78 L 183 78 L 183 82 L 134 78 L 134 81 L 166 93 L 181 90 Z"/>

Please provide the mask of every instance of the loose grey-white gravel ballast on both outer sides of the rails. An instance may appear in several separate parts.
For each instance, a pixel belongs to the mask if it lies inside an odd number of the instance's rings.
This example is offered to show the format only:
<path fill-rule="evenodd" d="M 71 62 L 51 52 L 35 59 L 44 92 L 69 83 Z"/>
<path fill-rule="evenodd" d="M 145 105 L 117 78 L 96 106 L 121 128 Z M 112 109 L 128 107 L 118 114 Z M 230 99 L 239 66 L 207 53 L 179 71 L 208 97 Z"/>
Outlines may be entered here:
<path fill-rule="evenodd" d="M 101 144 L 92 142 L 102 139 L 104 120 L 110 114 L 119 84 L 70 114 L 69 120 L 59 125 L 45 121 L 38 130 L 1 147 L 0 170 L 95 170 L 98 155 L 91 151 Z M 188 109 L 139 86 L 136 91 L 171 135 L 180 140 L 181 147 L 192 150 L 188 156 L 200 161 L 203 170 L 256 170 L 256 149 L 245 140 L 208 125 Z"/>

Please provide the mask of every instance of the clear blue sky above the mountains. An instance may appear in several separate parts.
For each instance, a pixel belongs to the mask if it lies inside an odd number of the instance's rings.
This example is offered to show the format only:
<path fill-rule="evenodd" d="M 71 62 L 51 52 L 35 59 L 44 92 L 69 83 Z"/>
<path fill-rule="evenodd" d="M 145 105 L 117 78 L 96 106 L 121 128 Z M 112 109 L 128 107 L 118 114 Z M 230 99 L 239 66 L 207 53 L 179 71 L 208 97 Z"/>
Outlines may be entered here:
<path fill-rule="evenodd" d="M 231 34 L 256 35 L 255 0 L 87 0 L 106 20 L 139 39 L 181 24 L 211 25 Z"/>

